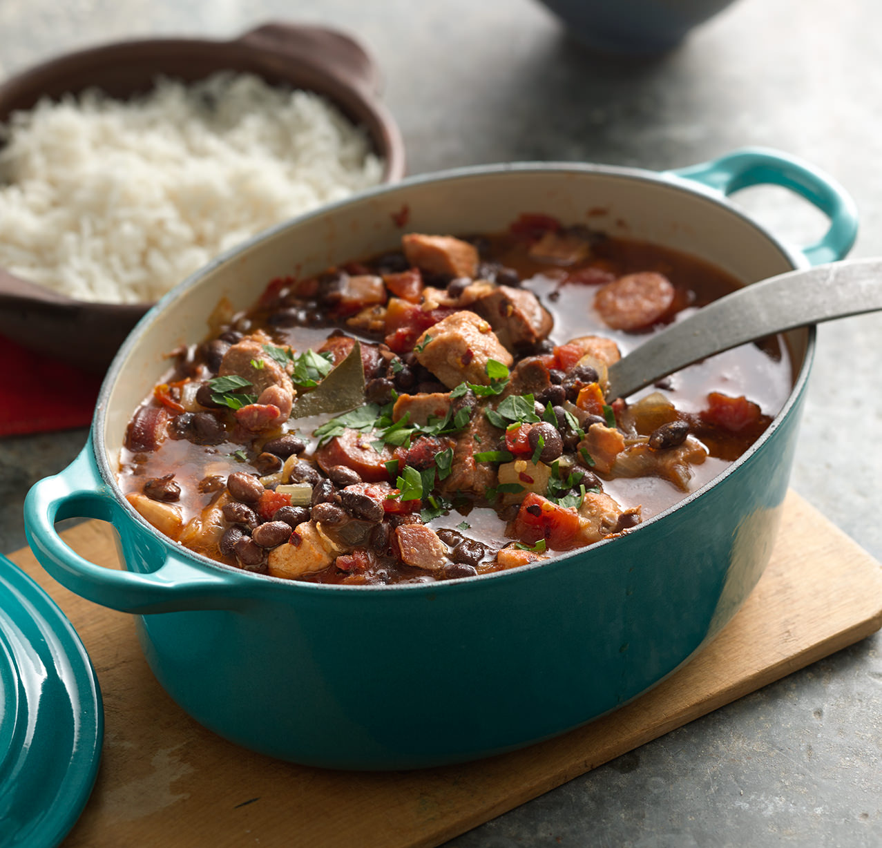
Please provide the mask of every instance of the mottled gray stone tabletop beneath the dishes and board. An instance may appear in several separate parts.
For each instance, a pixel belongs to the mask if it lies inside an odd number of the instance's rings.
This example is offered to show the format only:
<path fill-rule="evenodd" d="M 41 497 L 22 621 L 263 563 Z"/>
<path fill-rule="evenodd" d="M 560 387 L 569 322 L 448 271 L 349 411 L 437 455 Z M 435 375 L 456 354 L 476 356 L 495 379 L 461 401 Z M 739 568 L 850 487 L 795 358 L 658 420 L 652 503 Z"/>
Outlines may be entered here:
<path fill-rule="evenodd" d="M 663 169 L 773 146 L 836 175 L 861 212 L 853 255 L 882 255 L 882 6 L 861 0 L 740 0 L 647 60 L 587 54 L 531 0 L 4 0 L 0 74 L 100 41 L 229 37 L 286 18 L 370 45 L 411 173 L 503 160 Z M 782 191 L 743 203 L 796 243 L 823 227 Z M 877 558 L 880 332 L 882 316 L 820 328 L 792 479 Z M 85 437 L 0 442 L 0 549 L 24 543 L 26 487 Z M 880 646 L 841 651 L 450 845 L 882 845 Z"/>

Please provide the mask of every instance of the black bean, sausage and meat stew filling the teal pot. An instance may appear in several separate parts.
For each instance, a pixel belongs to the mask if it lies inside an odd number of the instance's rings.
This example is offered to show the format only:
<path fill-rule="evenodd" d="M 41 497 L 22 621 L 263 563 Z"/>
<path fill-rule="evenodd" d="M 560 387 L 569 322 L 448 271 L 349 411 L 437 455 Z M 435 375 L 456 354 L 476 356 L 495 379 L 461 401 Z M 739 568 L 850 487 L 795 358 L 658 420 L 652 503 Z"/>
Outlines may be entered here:
<path fill-rule="evenodd" d="M 522 215 L 221 302 L 134 413 L 119 481 L 198 554 L 320 583 L 511 569 L 629 532 L 739 457 L 792 384 L 781 338 L 608 401 L 609 363 L 738 285 Z"/>

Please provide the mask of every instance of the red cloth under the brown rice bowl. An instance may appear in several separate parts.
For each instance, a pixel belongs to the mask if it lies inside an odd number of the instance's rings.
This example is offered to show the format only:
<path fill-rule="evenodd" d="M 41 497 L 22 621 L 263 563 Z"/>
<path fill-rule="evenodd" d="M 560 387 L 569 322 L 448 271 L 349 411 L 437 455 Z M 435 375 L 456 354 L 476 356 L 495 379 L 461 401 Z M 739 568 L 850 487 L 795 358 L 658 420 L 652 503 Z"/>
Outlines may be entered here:
<path fill-rule="evenodd" d="M 0 436 L 86 427 L 101 376 L 0 336 Z"/>

